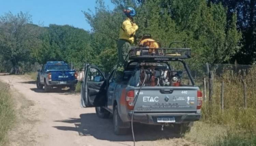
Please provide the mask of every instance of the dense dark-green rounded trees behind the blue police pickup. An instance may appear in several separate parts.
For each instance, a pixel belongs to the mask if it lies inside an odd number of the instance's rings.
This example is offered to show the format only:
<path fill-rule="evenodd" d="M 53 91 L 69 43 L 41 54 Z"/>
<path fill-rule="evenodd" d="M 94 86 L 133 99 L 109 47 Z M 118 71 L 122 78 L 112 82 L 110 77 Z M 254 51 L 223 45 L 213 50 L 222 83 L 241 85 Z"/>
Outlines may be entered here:
<path fill-rule="evenodd" d="M 63 60 L 72 62 L 76 69 L 82 69 L 85 62 L 93 62 L 89 32 L 68 25 L 49 25 L 43 29 L 41 47 L 33 51 L 38 62 Z"/>

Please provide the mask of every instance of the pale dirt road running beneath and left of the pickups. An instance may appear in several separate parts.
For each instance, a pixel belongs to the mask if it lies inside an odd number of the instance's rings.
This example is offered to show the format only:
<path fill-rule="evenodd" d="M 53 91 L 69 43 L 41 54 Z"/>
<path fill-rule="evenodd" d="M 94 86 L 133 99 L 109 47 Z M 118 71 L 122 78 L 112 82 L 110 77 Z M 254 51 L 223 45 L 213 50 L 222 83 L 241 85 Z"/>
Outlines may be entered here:
<path fill-rule="evenodd" d="M 133 145 L 131 134 L 114 135 L 112 118 L 100 119 L 94 108 L 81 108 L 77 93 L 63 90 L 44 93 L 25 76 L 0 75 L 0 80 L 12 85 L 17 96 L 15 104 L 24 100 L 32 103 L 25 107 L 25 113 L 21 113 L 22 119 L 27 119 L 22 127 L 11 132 L 16 133 L 14 137 L 20 137 L 11 145 L 25 145 L 26 142 L 26 145 L 36 146 Z M 21 94 L 24 100 L 18 98 Z M 158 126 L 136 125 L 134 129 L 137 146 L 159 145 L 165 138 L 170 138 L 166 145 L 191 145 L 182 138 L 174 138 L 177 135 L 170 130 L 161 131 Z"/>

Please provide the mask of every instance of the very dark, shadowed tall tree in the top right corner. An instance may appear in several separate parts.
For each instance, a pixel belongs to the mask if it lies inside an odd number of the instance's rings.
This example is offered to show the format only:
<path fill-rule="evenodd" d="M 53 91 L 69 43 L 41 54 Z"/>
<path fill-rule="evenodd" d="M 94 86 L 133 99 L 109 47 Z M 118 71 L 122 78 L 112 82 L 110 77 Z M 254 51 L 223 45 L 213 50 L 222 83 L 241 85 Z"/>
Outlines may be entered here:
<path fill-rule="evenodd" d="M 237 29 L 242 32 L 242 49 L 232 58 L 241 64 L 256 63 L 256 0 L 209 0 L 222 3 L 228 9 L 227 20 L 237 15 Z"/>

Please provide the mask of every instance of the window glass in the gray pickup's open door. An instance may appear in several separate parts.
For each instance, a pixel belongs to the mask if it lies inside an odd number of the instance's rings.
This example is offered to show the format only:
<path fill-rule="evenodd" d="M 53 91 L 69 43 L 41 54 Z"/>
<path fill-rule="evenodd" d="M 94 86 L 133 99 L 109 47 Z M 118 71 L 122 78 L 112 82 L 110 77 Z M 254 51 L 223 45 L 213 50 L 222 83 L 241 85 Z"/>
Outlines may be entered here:
<path fill-rule="evenodd" d="M 88 74 L 87 74 L 87 81 L 89 82 L 102 82 L 104 80 L 103 75 L 100 73 L 100 71 L 96 68 L 89 68 Z"/>

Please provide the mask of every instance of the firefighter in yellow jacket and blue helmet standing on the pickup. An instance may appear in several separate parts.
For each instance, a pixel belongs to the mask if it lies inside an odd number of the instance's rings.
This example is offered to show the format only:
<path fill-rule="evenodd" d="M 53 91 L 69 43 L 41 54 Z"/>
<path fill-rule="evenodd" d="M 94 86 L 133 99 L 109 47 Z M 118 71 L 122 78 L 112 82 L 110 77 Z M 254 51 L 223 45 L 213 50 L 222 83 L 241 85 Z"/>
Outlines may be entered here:
<path fill-rule="evenodd" d="M 133 22 L 133 17 L 136 15 L 136 11 L 129 7 L 127 10 L 124 10 L 127 18 L 123 21 L 120 33 L 119 40 L 117 42 L 118 48 L 118 70 L 122 71 L 124 66 L 127 63 L 126 56 L 129 52 L 131 44 L 134 42 L 134 35 L 136 30 L 138 30 L 138 25 Z"/>

